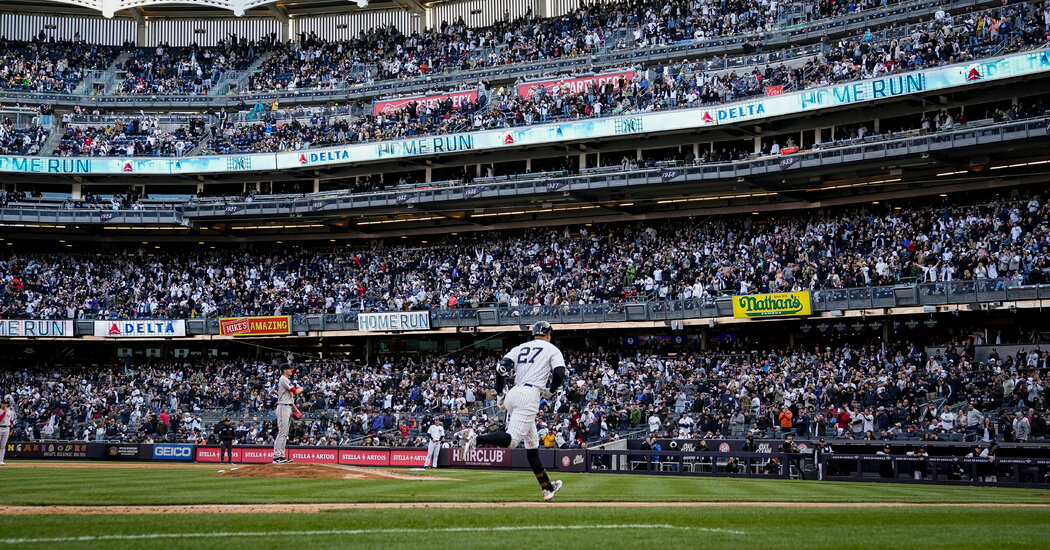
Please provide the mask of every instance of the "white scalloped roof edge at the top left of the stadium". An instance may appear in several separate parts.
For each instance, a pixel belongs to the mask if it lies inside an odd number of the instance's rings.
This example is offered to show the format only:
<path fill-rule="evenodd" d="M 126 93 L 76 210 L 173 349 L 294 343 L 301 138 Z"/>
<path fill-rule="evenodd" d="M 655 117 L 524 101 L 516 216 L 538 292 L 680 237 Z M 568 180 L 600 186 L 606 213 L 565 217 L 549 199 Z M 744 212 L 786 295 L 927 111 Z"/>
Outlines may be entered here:
<path fill-rule="evenodd" d="M 427 4 L 442 1 L 426 2 Z M 198 18 L 277 17 L 317 15 L 352 9 L 405 9 L 422 12 L 421 0 L 9 0 L 0 9 L 22 13 L 104 17 Z M 225 14 L 219 12 L 226 12 Z"/>

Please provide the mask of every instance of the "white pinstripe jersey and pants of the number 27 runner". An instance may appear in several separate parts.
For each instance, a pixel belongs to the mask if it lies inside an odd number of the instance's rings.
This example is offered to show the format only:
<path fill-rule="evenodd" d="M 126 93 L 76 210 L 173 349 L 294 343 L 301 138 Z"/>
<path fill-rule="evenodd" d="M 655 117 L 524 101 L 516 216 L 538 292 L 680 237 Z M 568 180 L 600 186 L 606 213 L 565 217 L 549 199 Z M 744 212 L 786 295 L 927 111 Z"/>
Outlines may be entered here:
<path fill-rule="evenodd" d="M 518 345 L 503 357 L 514 362 L 514 386 L 503 400 L 510 448 L 521 441 L 527 449 L 539 448 L 536 416 L 540 412 L 540 390 L 547 387 L 551 371 L 565 366 L 565 357 L 556 345 L 540 339 Z"/>

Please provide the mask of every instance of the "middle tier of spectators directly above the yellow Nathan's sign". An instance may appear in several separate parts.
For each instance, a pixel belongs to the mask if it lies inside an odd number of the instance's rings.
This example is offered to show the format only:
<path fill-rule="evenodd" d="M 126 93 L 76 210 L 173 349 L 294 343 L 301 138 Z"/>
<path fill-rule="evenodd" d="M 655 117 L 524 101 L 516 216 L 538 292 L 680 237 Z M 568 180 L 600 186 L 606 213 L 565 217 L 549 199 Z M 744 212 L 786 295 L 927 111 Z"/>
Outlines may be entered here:
<path fill-rule="evenodd" d="M 441 240 L 439 240 L 441 239 Z M 439 244 L 440 242 L 440 244 Z M 1040 194 L 966 206 L 850 207 L 756 219 L 547 228 L 332 250 L 21 252 L 3 318 L 190 318 L 481 305 L 713 301 L 726 294 L 1047 281 Z"/>

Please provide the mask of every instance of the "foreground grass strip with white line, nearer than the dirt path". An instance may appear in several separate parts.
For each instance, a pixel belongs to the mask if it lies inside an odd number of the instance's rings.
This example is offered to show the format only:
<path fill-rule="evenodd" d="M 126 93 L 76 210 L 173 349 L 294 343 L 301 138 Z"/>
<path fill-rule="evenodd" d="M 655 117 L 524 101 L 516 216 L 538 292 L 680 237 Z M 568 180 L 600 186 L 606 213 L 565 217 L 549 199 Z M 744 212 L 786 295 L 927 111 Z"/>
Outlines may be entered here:
<path fill-rule="evenodd" d="M 944 507 L 482 508 L 269 515 L 5 516 L 0 517 L 0 548 L 1046 548 L 1048 520 L 1050 513 L 1043 509 L 969 511 Z"/>

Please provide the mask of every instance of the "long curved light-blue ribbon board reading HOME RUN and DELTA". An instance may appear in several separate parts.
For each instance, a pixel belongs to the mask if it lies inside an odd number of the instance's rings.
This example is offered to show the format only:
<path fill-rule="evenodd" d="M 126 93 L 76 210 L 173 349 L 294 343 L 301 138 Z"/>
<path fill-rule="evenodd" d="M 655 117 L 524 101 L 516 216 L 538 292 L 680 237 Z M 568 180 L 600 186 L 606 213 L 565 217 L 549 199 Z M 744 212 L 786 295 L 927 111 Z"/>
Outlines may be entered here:
<path fill-rule="evenodd" d="M 803 115 L 822 109 L 847 107 L 929 91 L 981 86 L 987 82 L 1043 73 L 1050 73 L 1050 50 L 1047 49 L 709 107 L 278 153 L 170 158 L 52 158 L 8 155 L 0 156 L 0 172 L 99 175 L 222 174 L 301 170 L 449 153 L 491 152 L 508 148 L 629 138 Z"/>

